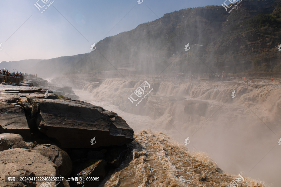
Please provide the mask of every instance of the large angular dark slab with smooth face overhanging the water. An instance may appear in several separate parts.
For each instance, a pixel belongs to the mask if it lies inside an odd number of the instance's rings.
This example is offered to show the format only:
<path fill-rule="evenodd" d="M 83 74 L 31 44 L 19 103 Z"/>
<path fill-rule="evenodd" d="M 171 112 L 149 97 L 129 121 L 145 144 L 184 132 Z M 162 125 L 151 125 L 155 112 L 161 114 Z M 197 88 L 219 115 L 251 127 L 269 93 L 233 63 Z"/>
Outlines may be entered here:
<path fill-rule="evenodd" d="M 77 100 L 27 97 L 27 101 L 38 130 L 62 148 L 121 146 L 133 140 L 134 131 L 126 121 L 102 107 Z"/>

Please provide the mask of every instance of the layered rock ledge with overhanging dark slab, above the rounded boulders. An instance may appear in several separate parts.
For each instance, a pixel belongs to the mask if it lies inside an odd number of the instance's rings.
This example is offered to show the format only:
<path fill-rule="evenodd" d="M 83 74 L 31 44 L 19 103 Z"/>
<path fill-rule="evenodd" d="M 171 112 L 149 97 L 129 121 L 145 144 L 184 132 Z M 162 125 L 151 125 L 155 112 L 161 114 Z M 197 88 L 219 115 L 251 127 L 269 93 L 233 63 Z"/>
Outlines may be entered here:
<path fill-rule="evenodd" d="M 0 91 L 0 124 L 5 133 L 30 138 L 39 130 L 62 148 L 122 146 L 134 131 L 114 112 L 78 100 L 58 99 L 40 89 Z"/>

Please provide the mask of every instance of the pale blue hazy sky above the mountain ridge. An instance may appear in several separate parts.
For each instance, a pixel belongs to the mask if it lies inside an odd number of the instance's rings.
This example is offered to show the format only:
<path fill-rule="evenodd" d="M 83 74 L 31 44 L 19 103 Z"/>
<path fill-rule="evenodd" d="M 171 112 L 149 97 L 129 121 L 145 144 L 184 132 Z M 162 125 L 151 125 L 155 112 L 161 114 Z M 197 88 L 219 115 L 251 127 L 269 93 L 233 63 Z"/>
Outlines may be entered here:
<path fill-rule="evenodd" d="M 143 0 L 138 4 L 137 0 L 0 0 L 0 62 L 87 53 L 93 43 L 130 31 L 165 13 L 223 2 Z M 36 3 L 42 7 L 40 11 Z"/>

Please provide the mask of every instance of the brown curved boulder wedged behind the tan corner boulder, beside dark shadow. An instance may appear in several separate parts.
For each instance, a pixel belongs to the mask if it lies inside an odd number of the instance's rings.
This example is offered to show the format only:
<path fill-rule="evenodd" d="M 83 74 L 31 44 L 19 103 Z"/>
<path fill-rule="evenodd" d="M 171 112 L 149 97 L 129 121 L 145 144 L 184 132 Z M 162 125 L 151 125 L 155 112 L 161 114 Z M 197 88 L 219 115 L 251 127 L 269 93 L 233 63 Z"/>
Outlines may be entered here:
<path fill-rule="evenodd" d="M 46 156 L 55 163 L 58 166 L 60 175 L 70 175 L 72 170 L 72 161 L 67 152 L 63 151 L 58 146 L 51 144 L 38 144 L 33 148 L 33 150 L 39 151 L 40 154 Z"/>

